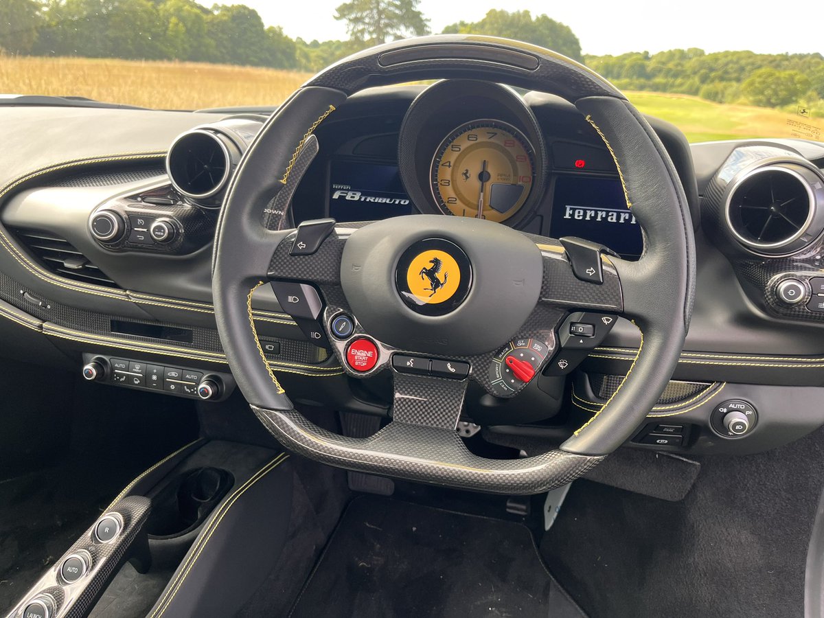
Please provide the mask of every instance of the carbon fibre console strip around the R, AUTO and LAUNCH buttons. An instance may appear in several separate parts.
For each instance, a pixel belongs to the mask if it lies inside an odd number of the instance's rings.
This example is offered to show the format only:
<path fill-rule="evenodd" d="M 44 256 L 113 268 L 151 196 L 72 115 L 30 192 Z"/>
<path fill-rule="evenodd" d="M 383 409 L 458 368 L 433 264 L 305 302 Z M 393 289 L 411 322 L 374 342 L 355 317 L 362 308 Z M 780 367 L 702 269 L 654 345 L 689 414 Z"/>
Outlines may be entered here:
<path fill-rule="evenodd" d="M 91 606 L 105 585 L 109 583 L 110 578 L 115 574 L 115 569 L 119 567 L 126 552 L 143 528 L 151 504 L 151 501 L 143 496 L 129 496 L 116 503 L 115 507 L 110 508 L 106 513 L 118 513 L 122 518 L 123 528 L 119 531 L 118 536 L 115 536 L 115 539 L 108 543 L 96 541 L 94 529 L 97 522 L 100 521 L 98 519 L 54 563 L 54 566 L 40 578 L 40 581 L 35 583 L 21 602 L 7 614 L 7 618 L 23 618 L 23 610 L 27 602 L 43 592 L 48 592 L 54 597 L 57 606 L 57 611 L 54 614 L 55 618 L 82 618 L 82 616 L 87 616 Z M 89 571 L 77 582 L 64 584 L 59 578 L 60 565 L 63 563 L 63 559 L 79 551 L 88 552 L 88 555 L 91 556 Z"/>

